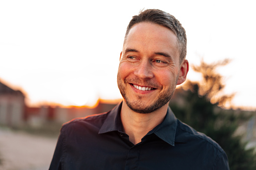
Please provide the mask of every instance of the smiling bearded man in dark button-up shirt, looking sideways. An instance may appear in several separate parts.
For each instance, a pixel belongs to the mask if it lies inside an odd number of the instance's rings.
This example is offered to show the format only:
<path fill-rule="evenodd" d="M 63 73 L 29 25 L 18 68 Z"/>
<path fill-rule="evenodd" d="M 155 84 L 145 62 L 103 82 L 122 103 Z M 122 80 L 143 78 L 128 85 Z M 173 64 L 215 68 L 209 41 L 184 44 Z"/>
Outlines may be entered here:
<path fill-rule="evenodd" d="M 189 71 L 182 25 L 146 10 L 128 25 L 117 83 L 123 101 L 64 124 L 50 169 L 229 169 L 223 149 L 168 107 Z"/>

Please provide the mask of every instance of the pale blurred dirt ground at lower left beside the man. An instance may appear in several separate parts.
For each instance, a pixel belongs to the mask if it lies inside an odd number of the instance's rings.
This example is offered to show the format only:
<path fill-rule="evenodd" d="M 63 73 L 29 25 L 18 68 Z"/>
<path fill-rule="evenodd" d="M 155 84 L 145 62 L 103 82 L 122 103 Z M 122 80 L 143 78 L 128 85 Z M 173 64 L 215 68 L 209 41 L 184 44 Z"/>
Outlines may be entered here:
<path fill-rule="evenodd" d="M 56 142 L 57 137 L 35 136 L 0 127 L 0 169 L 48 169 Z"/>

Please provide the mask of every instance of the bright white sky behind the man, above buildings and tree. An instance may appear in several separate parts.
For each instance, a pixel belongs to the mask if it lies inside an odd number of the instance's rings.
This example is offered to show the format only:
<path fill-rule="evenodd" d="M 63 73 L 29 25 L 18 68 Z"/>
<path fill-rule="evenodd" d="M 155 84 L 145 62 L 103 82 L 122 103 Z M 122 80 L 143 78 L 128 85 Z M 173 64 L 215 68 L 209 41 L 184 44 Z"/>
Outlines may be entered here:
<path fill-rule="evenodd" d="M 121 98 L 116 75 L 126 27 L 141 9 L 174 15 L 188 38 L 190 64 L 225 58 L 219 69 L 232 104 L 256 107 L 256 10 L 253 1 L 0 2 L 0 80 L 28 103 L 92 105 Z M 192 69 L 190 80 L 200 80 Z"/>

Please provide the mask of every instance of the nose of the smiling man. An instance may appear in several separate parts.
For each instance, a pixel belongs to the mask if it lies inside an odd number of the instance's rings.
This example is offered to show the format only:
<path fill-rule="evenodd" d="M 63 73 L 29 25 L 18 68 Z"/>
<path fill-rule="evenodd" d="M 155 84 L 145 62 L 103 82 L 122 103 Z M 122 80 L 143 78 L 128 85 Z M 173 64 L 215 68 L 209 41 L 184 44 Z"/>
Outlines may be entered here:
<path fill-rule="evenodd" d="M 154 77 L 154 75 L 152 73 L 152 68 L 148 61 L 143 61 L 139 65 L 137 65 L 136 69 L 134 70 L 134 75 L 141 79 L 147 79 L 147 78 Z"/>

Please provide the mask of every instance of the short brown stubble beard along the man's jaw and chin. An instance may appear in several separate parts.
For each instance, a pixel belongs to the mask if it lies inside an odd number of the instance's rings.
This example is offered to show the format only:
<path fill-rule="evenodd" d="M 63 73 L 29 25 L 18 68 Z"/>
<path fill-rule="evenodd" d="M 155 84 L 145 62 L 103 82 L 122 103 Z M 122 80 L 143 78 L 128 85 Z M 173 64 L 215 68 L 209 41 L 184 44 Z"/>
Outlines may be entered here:
<path fill-rule="evenodd" d="M 128 99 L 128 97 L 126 95 L 126 91 L 125 91 L 125 85 L 122 84 L 120 75 L 119 74 L 117 75 L 118 88 L 119 88 L 120 93 L 123 96 L 127 106 L 131 110 L 133 110 L 137 113 L 144 113 L 144 114 L 152 113 L 152 112 L 158 110 L 159 108 L 161 108 L 162 106 L 164 106 L 166 103 L 168 103 L 174 95 L 177 82 L 178 82 L 178 76 L 176 77 L 176 80 L 173 81 L 172 86 L 170 86 L 167 90 L 161 92 L 159 94 L 159 96 L 157 97 L 157 99 L 153 102 L 153 104 L 151 104 L 149 106 L 144 106 L 143 97 L 141 97 L 141 96 L 137 96 L 136 101 L 130 101 Z"/>

